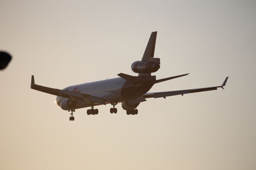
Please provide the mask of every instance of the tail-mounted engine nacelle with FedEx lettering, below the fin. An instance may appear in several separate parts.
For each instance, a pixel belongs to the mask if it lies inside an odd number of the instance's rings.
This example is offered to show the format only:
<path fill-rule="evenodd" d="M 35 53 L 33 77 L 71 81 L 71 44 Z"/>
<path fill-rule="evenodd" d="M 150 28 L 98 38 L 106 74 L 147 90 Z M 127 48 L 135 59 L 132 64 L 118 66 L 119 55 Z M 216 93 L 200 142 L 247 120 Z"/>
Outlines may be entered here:
<path fill-rule="evenodd" d="M 158 71 L 160 65 L 153 61 L 135 61 L 131 67 L 134 73 L 154 73 Z"/>

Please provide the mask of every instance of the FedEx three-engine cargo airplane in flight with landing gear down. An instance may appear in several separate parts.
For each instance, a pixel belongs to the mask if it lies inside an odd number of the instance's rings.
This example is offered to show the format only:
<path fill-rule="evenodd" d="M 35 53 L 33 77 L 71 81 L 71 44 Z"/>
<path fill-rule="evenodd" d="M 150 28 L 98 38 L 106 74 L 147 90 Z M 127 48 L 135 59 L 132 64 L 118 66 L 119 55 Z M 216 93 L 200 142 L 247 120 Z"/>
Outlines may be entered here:
<path fill-rule="evenodd" d="M 151 75 L 151 73 L 158 71 L 160 68 L 160 58 L 154 58 L 156 34 L 157 32 L 151 33 L 141 61 L 135 61 L 131 65 L 132 71 L 138 73 L 138 76 L 119 73 L 119 77 L 117 78 L 72 85 L 61 90 L 36 85 L 34 75 L 32 75 L 30 88 L 56 95 L 56 104 L 65 111 L 71 111 L 70 121 L 74 121 L 73 112 L 80 108 L 90 107 L 87 110 L 87 115 L 98 115 L 99 111 L 98 109 L 94 109 L 95 106 L 111 104 L 113 107 L 110 108 L 110 113 L 117 113 L 115 106 L 121 103 L 122 109 L 126 110 L 127 115 L 137 115 L 138 109 L 136 108 L 141 102 L 146 101 L 147 98 L 163 97 L 166 99 L 166 97 L 174 95 L 183 96 L 188 93 L 217 90 L 219 87 L 224 89 L 223 87 L 226 85 L 228 77 L 226 77 L 220 86 L 148 93 L 156 83 L 189 74 L 158 80 L 155 75 Z"/>

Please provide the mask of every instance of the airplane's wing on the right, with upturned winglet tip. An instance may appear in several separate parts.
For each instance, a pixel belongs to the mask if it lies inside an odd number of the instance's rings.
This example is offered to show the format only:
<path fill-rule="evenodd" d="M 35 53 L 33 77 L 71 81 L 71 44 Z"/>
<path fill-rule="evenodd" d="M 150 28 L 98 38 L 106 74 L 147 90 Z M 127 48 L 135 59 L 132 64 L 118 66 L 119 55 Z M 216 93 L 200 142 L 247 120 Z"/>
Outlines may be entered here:
<path fill-rule="evenodd" d="M 143 95 L 144 98 L 159 98 L 159 97 L 168 97 L 168 96 L 175 96 L 175 95 L 184 95 L 188 93 L 197 93 L 201 91 L 211 91 L 211 90 L 217 90 L 218 87 L 223 87 L 226 85 L 226 82 L 228 80 L 228 77 L 226 77 L 225 81 L 222 83 L 221 86 L 215 86 L 215 87 L 205 87 L 205 88 L 200 88 L 200 89 L 188 89 L 188 90 L 178 90 L 178 91 L 164 91 L 164 92 L 157 92 L 157 93 L 146 93 Z"/>

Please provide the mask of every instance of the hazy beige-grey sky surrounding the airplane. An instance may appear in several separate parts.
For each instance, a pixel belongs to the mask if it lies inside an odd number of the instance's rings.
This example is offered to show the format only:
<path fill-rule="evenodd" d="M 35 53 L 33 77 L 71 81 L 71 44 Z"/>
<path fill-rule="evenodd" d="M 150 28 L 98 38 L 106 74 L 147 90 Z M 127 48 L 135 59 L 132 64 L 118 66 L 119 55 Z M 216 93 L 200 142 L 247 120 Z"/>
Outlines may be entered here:
<path fill-rule="evenodd" d="M 0 1 L 1 170 L 255 170 L 256 2 Z M 136 75 L 158 31 L 150 92 L 221 85 L 225 90 L 148 99 L 138 115 L 76 110 L 30 89 Z"/>

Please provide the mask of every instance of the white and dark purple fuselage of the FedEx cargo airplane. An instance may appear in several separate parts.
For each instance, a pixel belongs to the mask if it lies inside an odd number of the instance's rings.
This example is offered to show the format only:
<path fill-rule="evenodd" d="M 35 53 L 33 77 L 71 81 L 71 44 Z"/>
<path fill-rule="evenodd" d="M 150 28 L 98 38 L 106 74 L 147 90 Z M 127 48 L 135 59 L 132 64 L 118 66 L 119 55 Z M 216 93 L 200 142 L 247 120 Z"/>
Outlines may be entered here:
<path fill-rule="evenodd" d="M 72 85 L 64 88 L 65 91 L 72 91 L 76 93 L 84 93 L 88 95 L 93 95 L 95 97 L 106 99 L 106 104 L 108 103 L 120 103 L 124 101 L 129 101 L 132 99 L 137 99 L 147 93 L 154 83 L 147 83 L 142 85 L 134 85 L 129 81 L 126 81 L 122 77 L 106 79 L 101 81 L 94 81 L 90 83 L 84 83 L 79 85 Z M 56 97 L 56 103 L 60 106 L 60 102 L 64 100 L 65 97 Z M 100 105 L 100 103 L 94 103 L 94 106 Z M 89 99 L 87 100 L 77 100 L 76 107 L 74 109 L 80 109 L 84 107 L 91 107 L 92 103 Z M 62 108 L 63 109 L 63 108 Z M 69 110 L 69 109 L 64 109 Z"/>

